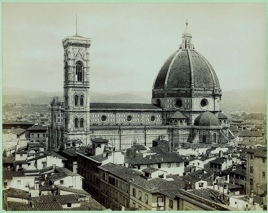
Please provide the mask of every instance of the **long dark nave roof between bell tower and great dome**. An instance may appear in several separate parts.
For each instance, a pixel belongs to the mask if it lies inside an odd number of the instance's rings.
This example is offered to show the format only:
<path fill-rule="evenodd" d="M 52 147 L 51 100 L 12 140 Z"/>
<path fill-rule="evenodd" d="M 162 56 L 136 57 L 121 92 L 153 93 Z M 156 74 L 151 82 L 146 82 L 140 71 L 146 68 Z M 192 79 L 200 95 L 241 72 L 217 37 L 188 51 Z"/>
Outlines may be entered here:
<path fill-rule="evenodd" d="M 151 109 L 162 110 L 161 107 L 147 103 L 90 103 L 91 109 Z"/>

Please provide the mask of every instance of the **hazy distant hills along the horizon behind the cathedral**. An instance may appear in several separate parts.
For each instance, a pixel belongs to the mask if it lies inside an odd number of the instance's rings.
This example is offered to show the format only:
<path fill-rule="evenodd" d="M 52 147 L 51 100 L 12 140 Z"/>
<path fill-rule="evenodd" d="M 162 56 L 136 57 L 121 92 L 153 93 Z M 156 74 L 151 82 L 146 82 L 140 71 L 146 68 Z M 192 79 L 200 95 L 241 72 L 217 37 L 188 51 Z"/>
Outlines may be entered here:
<path fill-rule="evenodd" d="M 134 95 L 135 94 L 135 95 Z M 43 92 L 16 88 L 3 88 L 3 104 L 5 103 L 49 103 L 53 96 L 63 100 L 63 91 Z M 151 93 L 96 93 L 90 92 L 90 102 L 106 103 L 151 103 Z M 224 91 L 221 98 L 221 109 L 224 112 L 266 112 L 266 90 L 243 88 Z"/>

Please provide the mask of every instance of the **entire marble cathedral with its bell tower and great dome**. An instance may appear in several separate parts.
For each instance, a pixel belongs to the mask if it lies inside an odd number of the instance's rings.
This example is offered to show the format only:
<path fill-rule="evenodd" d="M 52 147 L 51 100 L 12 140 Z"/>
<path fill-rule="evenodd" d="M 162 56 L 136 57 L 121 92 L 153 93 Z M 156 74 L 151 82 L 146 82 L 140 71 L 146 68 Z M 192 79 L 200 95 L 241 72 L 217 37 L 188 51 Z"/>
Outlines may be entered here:
<path fill-rule="evenodd" d="M 115 150 L 150 147 L 160 136 L 170 148 L 235 144 L 221 113 L 218 77 L 192 44 L 187 21 L 181 44 L 157 72 L 151 104 L 90 103 L 90 45 L 77 34 L 62 40 L 64 100 L 50 102 L 48 150 L 100 137 Z"/>

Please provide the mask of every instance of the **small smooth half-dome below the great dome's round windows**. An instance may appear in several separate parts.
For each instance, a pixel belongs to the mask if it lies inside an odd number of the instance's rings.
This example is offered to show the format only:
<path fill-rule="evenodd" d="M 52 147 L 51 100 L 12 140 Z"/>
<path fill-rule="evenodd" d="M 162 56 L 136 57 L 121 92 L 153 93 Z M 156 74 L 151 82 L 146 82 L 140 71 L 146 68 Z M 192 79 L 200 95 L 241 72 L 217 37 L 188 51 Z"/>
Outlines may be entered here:
<path fill-rule="evenodd" d="M 220 126 L 219 118 L 213 113 L 206 111 L 197 116 L 194 126 Z"/>

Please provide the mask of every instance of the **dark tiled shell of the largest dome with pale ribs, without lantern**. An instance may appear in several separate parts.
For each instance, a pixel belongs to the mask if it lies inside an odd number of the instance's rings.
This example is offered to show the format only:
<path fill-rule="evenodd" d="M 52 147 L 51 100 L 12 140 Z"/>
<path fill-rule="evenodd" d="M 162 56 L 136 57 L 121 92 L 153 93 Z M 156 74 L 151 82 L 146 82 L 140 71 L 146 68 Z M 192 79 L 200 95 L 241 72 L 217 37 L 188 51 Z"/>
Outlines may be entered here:
<path fill-rule="evenodd" d="M 195 49 L 179 49 L 160 68 L 153 89 L 219 88 L 218 77 L 209 62 Z"/>

